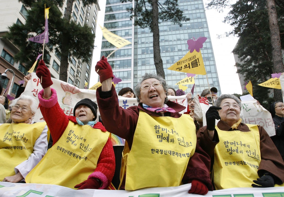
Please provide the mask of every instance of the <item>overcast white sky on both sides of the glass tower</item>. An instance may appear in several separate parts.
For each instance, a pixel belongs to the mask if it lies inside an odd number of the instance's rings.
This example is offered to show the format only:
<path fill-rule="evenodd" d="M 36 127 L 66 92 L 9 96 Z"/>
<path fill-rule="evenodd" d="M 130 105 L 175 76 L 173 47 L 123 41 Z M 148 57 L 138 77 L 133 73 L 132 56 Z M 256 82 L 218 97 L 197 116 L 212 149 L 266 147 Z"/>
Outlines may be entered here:
<path fill-rule="evenodd" d="M 98 13 L 98 20 L 97 23 L 103 26 L 104 16 L 105 16 L 105 2 L 106 0 L 100 0 L 100 9 Z M 208 2 L 204 0 L 204 4 Z M 229 24 L 224 24 L 222 21 L 224 20 L 224 16 L 226 16 L 228 10 L 224 12 L 218 12 L 216 10 L 205 10 L 205 14 L 207 17 L 210 37 L 212 41 L 212 47 L 215 57 L 215 62 L 217 66 L 217 72 L 219 77 L 219 82 L 221 86 L 222 94 L 233 94 L 238 93 L 241 94 L 241 85 L 239 81 L 238 74 L 236 74 L 237 69 L 234 67 L 235 59 L 233 56 L 233 51 L 238 38 L 237 37 L 225 37 L 218 39 L 218 35 L 223 35 L 225 32 L 229 32 L 232 30 L 232 27 Z M 95 46 L 93 61 L 92 61 L 92 70 L 91 70 L 91 78 L 89 87 L 92 87 L 97 83 L 98 75 L 95 72 L 95 65 L 97 61 L 100 59 L 100 49 L 101 49 L 101 42 L 97 41 L 102 37 L 102 31 L 97 25 L 96 30 L 96 39 L 95 39 Z"/>

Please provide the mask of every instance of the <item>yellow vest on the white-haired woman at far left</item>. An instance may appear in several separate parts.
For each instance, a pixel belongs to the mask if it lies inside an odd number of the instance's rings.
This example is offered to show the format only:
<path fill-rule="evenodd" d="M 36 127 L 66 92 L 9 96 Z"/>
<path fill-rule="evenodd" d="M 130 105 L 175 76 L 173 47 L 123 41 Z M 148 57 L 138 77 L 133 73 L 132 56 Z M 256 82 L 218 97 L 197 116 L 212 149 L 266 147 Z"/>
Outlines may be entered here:
<path fill-rule="evenodd" d="M 34 152 L 34 144 L 46 123 L 12 123 L 0 126 L 0 181 L 15 175 L 14 167 L 26 161 Z"/>

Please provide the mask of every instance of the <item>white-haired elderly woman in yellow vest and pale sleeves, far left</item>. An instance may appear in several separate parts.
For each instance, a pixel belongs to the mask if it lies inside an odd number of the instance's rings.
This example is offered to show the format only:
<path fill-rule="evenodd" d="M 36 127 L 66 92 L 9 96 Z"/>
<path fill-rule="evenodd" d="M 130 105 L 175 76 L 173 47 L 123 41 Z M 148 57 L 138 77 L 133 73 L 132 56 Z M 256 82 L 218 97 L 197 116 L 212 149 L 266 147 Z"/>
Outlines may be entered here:
<path fill-rule="evenodd" d="M 23 182 L 47 151 L 47 125 L 32 119 L 36 100 L 21 95 L 10 104 L 12 123 L 0 125 L 0 180 Z"/>

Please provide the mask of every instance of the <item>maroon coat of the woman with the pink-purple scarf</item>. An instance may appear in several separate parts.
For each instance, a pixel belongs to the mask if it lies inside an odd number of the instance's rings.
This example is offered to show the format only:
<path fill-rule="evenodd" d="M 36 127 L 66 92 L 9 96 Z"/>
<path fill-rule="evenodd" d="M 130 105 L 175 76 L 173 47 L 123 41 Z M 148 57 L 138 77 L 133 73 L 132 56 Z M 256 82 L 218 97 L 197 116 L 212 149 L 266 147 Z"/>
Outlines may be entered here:
<path fill-rule="evenodd" d="M 103 120 L 104 126 L 110 133 L 113 133 L 128 142 L 131 149 L 133 136 L 136 129 L 139 110 L 146 112 L 151 116 L 160 116 L 160 113 L 150 112 L 142 107 L 139 103 L 138 106 L 131 106 L 128 109 L 124 109 L 118 104 L 118 97 L 114 86 L 112 90 L 108 92 L 101 91 L 101 87 L 97 89 L 97 102 Z M 176 113 L 166 112 L 164 116 L 171 116 L 173 118 L 179 118 L 181 114 L 177 113 L 185 109 L 177 103 L 168 101 L 166 103 L 170 108 L 176 110 Z M 197 143 L 195 153 L 190 158 L 187 169 L 183 176 L 183 183 L 191 183 L 191 180 L 197 179 L 202 181 L 209 190 L 213 190 L 211 179 L 209 176 L 210 158 L 204 150 Z"/>

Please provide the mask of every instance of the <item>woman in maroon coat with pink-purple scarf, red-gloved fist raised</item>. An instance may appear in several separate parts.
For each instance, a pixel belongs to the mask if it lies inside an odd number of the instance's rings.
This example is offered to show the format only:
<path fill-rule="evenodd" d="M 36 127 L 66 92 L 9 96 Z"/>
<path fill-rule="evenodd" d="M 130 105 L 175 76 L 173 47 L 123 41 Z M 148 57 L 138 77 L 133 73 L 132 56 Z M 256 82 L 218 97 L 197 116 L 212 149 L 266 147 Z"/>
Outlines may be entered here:
<path fill-rule="evenodd" d="M 95 69 L 102 83 L 96 96 L 103 123 L 110 133 L 126 139 L 123 161 L 127 171 L 121 171 L 121 188 L 169 187 L 182 182 L 192 184 L 189 193 L 212 190 L 210 160 L 197 144 L 193 119 L 178 113 L 184 106 L 168 101 L 165 79 L 145 74 L 135 89 L 138 106 L 124 109 L 118 105 L 106 58 Z"/>

